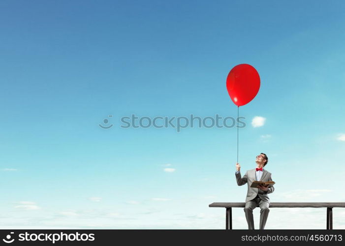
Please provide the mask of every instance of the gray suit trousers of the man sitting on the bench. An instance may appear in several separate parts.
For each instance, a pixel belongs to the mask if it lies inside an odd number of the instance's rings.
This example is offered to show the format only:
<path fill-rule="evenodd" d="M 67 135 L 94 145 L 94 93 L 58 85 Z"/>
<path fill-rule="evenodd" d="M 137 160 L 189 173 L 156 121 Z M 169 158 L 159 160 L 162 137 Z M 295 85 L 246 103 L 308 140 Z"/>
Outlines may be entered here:
<path fill-rule="evenodd" d="M 260 197 L 256 196 L 253 200 L 246 202 L 246 207 L 244 209 L 246 214 L 246 219 L 248 223 L 248 229 L 254 229 L 254 219 L 253 219 L 253 209 L 255 209 L 259 205 L 260 207 L 260 229 L 265 228 L 265 224 L 267 221 L 268 213 L 270 210 L 270 204 L 268 202 L 264 202 L 260 199 Z"/>

